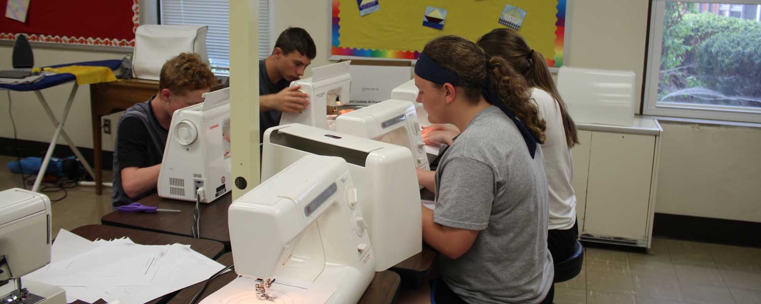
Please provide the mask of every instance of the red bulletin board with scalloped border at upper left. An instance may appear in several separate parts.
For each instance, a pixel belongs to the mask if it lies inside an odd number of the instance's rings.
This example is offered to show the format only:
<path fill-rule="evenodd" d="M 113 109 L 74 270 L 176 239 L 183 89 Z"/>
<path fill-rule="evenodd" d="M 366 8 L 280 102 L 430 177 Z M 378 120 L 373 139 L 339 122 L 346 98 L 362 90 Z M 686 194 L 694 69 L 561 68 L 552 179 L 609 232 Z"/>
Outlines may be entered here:
<path fill-rule="evenodd" d="M 135 46 L 139 0 L 30 0 L 25 23 L 5 17 L 0 0 L 0 40 L 24 33 L 40 43 Z"/>

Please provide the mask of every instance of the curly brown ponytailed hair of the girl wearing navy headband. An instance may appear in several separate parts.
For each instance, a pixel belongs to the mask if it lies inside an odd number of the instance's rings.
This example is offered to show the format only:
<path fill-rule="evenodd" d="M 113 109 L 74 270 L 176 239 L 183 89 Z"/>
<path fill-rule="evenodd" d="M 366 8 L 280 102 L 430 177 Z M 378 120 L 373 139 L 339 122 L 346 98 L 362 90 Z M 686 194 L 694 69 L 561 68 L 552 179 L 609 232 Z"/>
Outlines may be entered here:
<path fill-rule="evenodd" d="M 481 47 L 455 35 L 439 36 L 425 45 L 425 55 L 466 82 L 465 100 L 478 103 L 484 84 L 493 87 L 502 103 L 521 119 L 531 133 L 544 143 L 546 124 L 537 105 L 530 100 L 526 81 L 500 57 L 489 58 Z M 487 62 L 489 67 L 487 67 Z"/>

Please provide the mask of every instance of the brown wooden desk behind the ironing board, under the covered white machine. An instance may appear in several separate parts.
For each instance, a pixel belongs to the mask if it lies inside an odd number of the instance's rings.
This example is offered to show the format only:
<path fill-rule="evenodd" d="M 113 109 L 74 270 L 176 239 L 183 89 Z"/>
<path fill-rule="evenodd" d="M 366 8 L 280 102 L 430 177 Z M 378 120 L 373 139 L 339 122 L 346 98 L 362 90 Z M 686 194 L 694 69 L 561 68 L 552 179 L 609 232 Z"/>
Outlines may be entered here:
<path fill-rule="evenodd" d="M 158 92 L 158 81 L 128 79 L 90 85 L 90 111 L 93 125 L 93 158 L 95 194 L 103 193 L 103 146 L 100 138 L 100 117 L 123 111 L 135 103 L 142 103 Z M 116 122 L 111 122 L 116 131 Z"/>

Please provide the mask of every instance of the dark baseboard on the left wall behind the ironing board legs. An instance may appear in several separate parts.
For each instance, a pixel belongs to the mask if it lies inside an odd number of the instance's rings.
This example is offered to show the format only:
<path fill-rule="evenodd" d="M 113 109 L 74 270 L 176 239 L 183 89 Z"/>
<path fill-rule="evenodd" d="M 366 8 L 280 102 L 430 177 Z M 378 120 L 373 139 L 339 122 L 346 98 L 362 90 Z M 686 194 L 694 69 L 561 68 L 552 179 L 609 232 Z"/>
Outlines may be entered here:
<path fill-rule="evenodd" d="M 24 157 L 45 157 L 49 144 L 40 141 L 27 141 L 19 139 L 18 142 L 13 138 L 0 138 L 0 155 L 7 155 L 10 157 L 19 156 Z M 82 153 L 84 160 L 90 163 L 95 169 L 93 160 L 93 149 L 88 147 L 77 147 Z M 17 153 L 18 149 L 18 153 Z M 67 144 L 56 144 L 56 149 L 53 150 L 53 157 L 71 157 L 74 155 L 71 147 Z M 103 151 L 103 169 L 110 170 L 113 166 L 113 152 Z M 110 179 L 110 177 L 105 177 Z"/>

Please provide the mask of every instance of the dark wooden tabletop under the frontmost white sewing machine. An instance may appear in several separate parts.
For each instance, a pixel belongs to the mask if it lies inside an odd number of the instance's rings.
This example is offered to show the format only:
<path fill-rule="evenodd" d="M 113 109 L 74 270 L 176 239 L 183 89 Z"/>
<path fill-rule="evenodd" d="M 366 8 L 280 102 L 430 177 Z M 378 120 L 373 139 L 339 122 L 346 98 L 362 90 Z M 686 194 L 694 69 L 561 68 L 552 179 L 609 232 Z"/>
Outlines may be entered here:
<path fill-rule="evenodd" d="M 233 254 L 231 252 L 225 253 L 218 258 L 217 261 L 224 266 L 229 266 L 230 264 L 233 264 Z M 235 268 L 233 268 L 233 271 L 229 271 L 228 273 L 220 275 L 215 280 L 212 280 L 212 282 L 209 283 L 209 287 L 206 287 L 206 290 L 198 302 L 201 302 L 206 296 L 211 295 L 232 282 L 232 280 L 237 277 L 234 270 Z M 399 274 L 395 274 L 393 271 L 376 272 L 375 277 L 373 277 L 373 280 L 370 282 L 370 286 L 365 290 L 365 294 L 359 299 L 359 303 L 393 303 L 396 301 L 396 295 L 399 293 L 400 281 L 401 278 L 399 277 Z M 196 296 L 196 293 L 201 290 L 204 283 L 205 281 L 186 287 L 180 291 L 180 293 L 177 293 L 177 296 L 170 299 L 167 304 L 187 304 L 193 299 L 193 296 Z"/>

